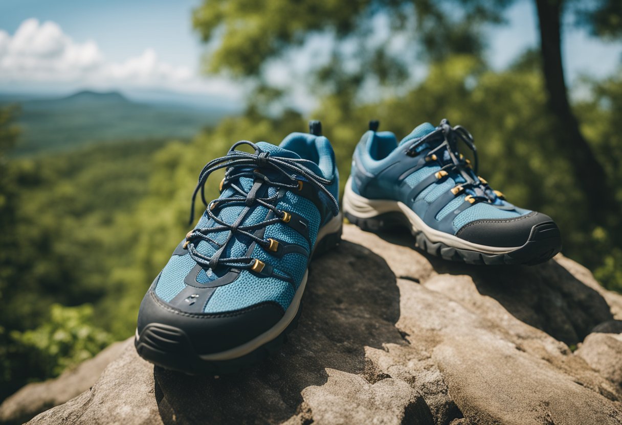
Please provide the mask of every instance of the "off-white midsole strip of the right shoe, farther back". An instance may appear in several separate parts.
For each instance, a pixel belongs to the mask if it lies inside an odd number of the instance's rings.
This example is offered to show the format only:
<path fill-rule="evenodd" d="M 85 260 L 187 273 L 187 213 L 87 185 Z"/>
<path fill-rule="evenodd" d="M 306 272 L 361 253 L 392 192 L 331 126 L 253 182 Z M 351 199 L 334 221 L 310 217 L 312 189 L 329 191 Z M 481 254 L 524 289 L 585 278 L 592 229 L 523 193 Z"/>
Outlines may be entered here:
<path fill-rule="evenodd" d="M 468 240 L 460 239 L 455 235 L 432 229 L 415 214 L 412 209 L 400 201 L 390 199 L 367 199 L 360 194 L 354 193 L 351 187 L 351 177 L 346 181 L 345 193 L 343 194 L 343 212 L 348 212 L 359 218 L 372 218 L 386 212 L 402 212 L 411 223 L 414 232 L 423 232 L 430 242 L 442 242 L 453 248 L 483 252 L 485 254 L 506 254 L 520 247 L 490 247 L 488 245 L 473 244 Z"/>

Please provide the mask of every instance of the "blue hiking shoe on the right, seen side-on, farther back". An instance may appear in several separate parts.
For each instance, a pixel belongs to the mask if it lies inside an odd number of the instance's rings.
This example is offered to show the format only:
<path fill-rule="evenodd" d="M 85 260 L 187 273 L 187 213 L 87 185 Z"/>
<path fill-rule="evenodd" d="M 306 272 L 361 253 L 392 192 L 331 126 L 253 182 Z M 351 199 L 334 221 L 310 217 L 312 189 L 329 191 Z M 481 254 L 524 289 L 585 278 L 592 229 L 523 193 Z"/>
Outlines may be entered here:
<path fill-rule="evenodd" d="M 536 264 L 562 246 L 549 216 L 509 203 L 477 175 L 473 137 L 446 119 L 425 123 L 399 144 L 378 121 L 356 146 L 343 214 L 362 229 L 407 226 L 417 246 L 473 264 Z M 473 151 L 475 164 L 458 152 Z"/>

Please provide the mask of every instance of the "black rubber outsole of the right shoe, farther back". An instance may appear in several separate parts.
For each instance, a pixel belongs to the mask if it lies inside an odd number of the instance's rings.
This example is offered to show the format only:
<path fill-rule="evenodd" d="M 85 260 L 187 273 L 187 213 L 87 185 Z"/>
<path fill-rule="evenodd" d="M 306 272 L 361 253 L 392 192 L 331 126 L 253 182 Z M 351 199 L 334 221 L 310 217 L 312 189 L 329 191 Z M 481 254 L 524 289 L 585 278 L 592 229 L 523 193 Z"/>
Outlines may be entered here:
<path fill-rule="evenodd" d="M 527 242 L 511 252 L 504 254 L 488 254 L 474 250 L 451 247 L 443 242 L 432 242 L 424 232 L 414 231 L 404 214 L 401 212 L 386 212 L 376 217 L 356 217 L 348 211 L 344 216 L 352 224 L 364 231 L 390 231 L 396 228 L 407 227 L 415 237 L 415 246 L 428 254 L 437 255 L 445 260 L 465 262 L 480 265 L 536 265 L 554 257 L 562 249 L 562 238 L 557 224 L 552 221 L 542 222 L 532 227 Z"/>

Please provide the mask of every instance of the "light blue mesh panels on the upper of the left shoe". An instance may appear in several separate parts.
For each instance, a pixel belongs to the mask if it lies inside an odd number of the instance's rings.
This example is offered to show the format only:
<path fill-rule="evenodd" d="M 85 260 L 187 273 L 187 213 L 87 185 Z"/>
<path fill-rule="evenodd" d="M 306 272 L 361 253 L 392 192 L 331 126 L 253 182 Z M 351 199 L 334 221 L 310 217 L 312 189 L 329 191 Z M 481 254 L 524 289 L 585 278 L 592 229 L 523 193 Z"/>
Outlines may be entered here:
<path fill-rule="evenodd" d="M 281 149 L 275 145 L 269 145 L 263 142 L 258 145 L 261 145 L 261 149 L 270 152 L 271 155 L 300 158 L 296 153 Z M 330 145 L 328 147 L 330 147 Z M 317 153 L 319 162 L 327 162 L 327 156 L 328 160 L 332 160 L 334 157 L 332 151 L 328 152 L 329 149 L 326 144 L 318 144 L 317 149 L 319 151 Z M 322 175 L 322 171 L 320 171 L 317 166 L 313 167 L 314 165 L 315 164 L 311 164 L 309 167 L 313 168 L 313 172 L 320 173 L 320 175 Z M 327 168 L 326 164 L 324 164 L 324 168 Z M 241 186 L 241 188 L 243 188 L 244 191 L 248 192 L 253 185 L 253 180 L 251 178 L 243 177 L 240 178 L 237 183 Z M 338 182 L 335 181 L 329 190 L 337 193 L 337 187 Z M 276 193 L 276 188 L 269 188 L 268 196 Z M 233 194 L 234 191 L 231 188 L 225 188 L 223 193 L 221 193 L 220 198 L 227 198 L 233 196 Z M 241 215 L 244 208 L 245 207 L 241 205 L 228 205 L 221 208 L 221 211 L 218 211 L 218 217 L 225 222 L 234 223 Z M 259 204 L 255 204 L 251 208 L 252 209 L 249 214 L 247 214 L 243 224 L 253 224 L 264 221 L 269 210 Z M 277 208 L 295 212 L 309 222 L 309 236 L 313 246 L 321 221 L 320 212 L 315 204 L 313 204 L 313 202 L 309 199 L 295 194 L 293 191 L 287 191 L 284 197 L 279 200 Z M 212 227 L 215 225 L 215 222 L 210 220 L 207 212 L 205 212 L 195 228 Z M 217 242 L 223 243 L 228 235 L 229 231 L 221 231 L 210 233 L 209 237 Z M 309 242 L 307 242 L 305 237 L 281 222 L 267 226 L 263 237 L 264 239 L 272 237 L 274 239 L 281 240 L 286 244 L 300 245 L 307 250 L 307 252 L 312 250 L 312 246 L 309 246 Z M 244 257 L 247 255 L 248 247 L 252 242 L 253 241 L 246 235 L 234 234 L 230 242 L 226 245 L 223 256 Z M 213 255 L 218 248 L 213 246 L 213 244 L 210 244 L 210 242 L 202 240 L 197 245 L 196 249 L 200 254 L 211 257 L 211 255 Z M 204 308 L 205 313 L 234 311 L 263 302 L 274 302 L 279 304 L 284 310 L 287 309 L 292 297 L 294 296 L 297 286 L 307 270 L 307 257 L 302 254 L 287 254 L 282 258 L 277 258 L 270 252 L 264 250 L 260 245 L 256 245 L 253 252 L 249 256 L 271 265 L 276 273 L 290 276 L 292 281 L 294 281 L 294 284 L 292 285 L 292 283 L 280 280 L 274 276 L 258 276 L 252 272 L 249 272 L 249 270 L 242 270 L 239 277 L 233 283 L 218 286 L 215 289 L 213 295 L 211 295 L 211 298 Z M 174 255 L 171 257 L 160 274 L 159 281 L 157 282 L 155 288 L 156 295 L 164 301 L 170 301 L 173 299 L 178 293 L 180 293 L 180 291 L 183 290 L 183 288 L 185 288 L 186 285 L 183 282 L 185 276 L 188 275 L 188 272 L 190 272 L 196 264 L 195 260 L 193 260 L 189 254 Z M 219 266 L 216 270 L 208 269 L 207 272 L 205 270 L 201 270 L 197 276 L 197 281 L 200 283 L 208 283 L 223 276 L 227 271 L 228 268 L 224 266 Z"/>

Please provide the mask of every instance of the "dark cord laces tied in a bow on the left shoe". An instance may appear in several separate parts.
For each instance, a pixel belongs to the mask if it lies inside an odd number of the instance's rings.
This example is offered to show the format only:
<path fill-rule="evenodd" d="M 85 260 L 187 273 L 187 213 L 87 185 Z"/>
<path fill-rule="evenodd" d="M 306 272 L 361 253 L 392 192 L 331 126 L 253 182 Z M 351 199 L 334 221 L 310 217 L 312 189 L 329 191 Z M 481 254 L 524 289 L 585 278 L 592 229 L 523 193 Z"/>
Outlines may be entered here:
<path fill-rule="evenodd" d="M 239 145 L 249 145 L 255 150 L 255 153 L 236 150 L 236 147 Z M 273 157 L 269 152 L 264 152 L 258 145 L 253 142 L 248 142 L 247 140 L 242 140 L 234 144 L 225 157 L 216 158 L 215 160 L 208 162 L 199 174 L 197 187 L 192 194 L 190 224 L 194 221 L 195 199 L 200 191 L 203 204 L 207 207 L 206 212 L 209 218 L 215 222 L 215 225 L 212 227 L 196 228 L 188 232 L 184 247 L 188 250 L 190 257 L 192 257 L 195 262 L 205 267 L 210 267 L 212 270 L 219 265 L 225 267 L 235 267 L 238 269 L 252 268 L 255 262 L 255 259 L 252 257 L 222 256 L 223 252 L 225 252 L 227 244 L 230 242 L 234 234 L 245 235 L 262 247 L 268 248 L 271 242 L 269 240 L 261 239 L 256 236 L 254 232 L 266 226 L 270 226 L 271 224 L 287 221 L 287 216 L 289 214 L 286 211 L 282 211 L 274 206 L 274 202 L 279 198 L 279 190 L 277 190 L 272 196 L 258 196 L 259 190 L 264 185 L 272 186 L 277 189 L 293 190 L 299 188 L 299 185 L 302 184 L 300 183 L 300 177 L 302 177 L 305 179 L 304 183 L 313 185 L 319 191 L 322 191 L 328 199 L 330 199 L 332 212 L 334 215 L 337 215 L 339 212 L 337 199 L 335 199 L 333 194 L 330 193 L 330 191 L 328 191 L 325 187 L 325 185 L 332 184 L 332 181 L 327 180 L 322 176 L 318 176 L 312 170 L 305 167 L 305 162 L 309 163 L 310 161 L 302 158 Z M 223 188 L 227 186 L 231 188 L 234 193 L 228 198 L 218 198 L 208 203 L 205 200 L 205 183 L 211 173 L 216 170 L 220 170 L 221 168 L 226 168 L 227 170 L 225 171 L 225 178 L 220 183 L 220 189 L 223 190 Z M 276 170 L 279 175 L 284 177 L 282 180 L 285 180 L 286 182 L 283 183 L 282 181 L 270 180 L 266 175 L 261 173 L 259 170 L 261 168 Z M 248 192 L 244 191 L 240 185 L 235 183 L 243 177 L 253 178 L 253 186 L 251 186 Z M 289 181 L 291 181 L 291 183 L 289 183 Z M 248 216 L 248 212 L 250 211 L 250 208 L 246 208 L 239 215 L 239 217 L 236 218 L 234 223 L 228 223 L 221 220 L 213 212 L 216 209 L 216 206 L 220 209 L 223 208 L 223 206 L 231 206 L 233 204 L 243 204 L 246 207 L 255 205 L 264 206 L 274 213 L 274 218 L 266 219 L 254 224 L 243 224 L 244 219 Z M 217 242 L 209 236 L 211 233 L 223 231 L 229 232 L 225 242 L 223 243 Z M 216 252 L 213 255 L 203 255 L 197 251 L 197 246 L 202 240 L 216 247 Z"/>

